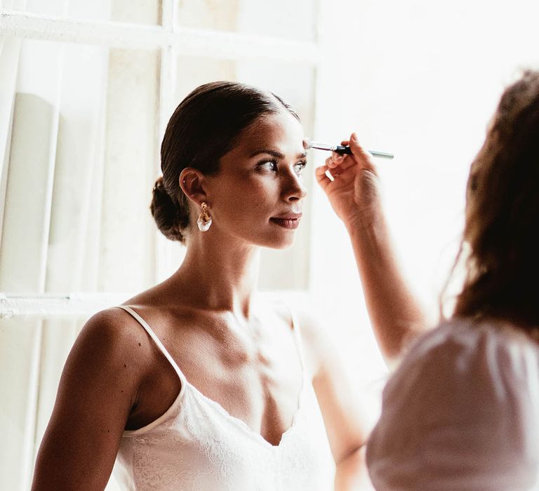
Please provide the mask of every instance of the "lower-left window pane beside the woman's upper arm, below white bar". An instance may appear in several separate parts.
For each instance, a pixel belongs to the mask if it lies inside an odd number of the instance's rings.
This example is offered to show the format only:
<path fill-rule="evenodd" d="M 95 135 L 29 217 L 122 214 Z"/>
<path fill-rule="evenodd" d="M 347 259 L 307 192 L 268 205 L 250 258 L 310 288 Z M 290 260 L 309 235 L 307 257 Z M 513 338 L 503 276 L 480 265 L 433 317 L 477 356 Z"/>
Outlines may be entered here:
<path fill-rule="evenodd" d="M 82 321 L 0 319 L 0 489 L 29 490 L 67 354 Z"/>

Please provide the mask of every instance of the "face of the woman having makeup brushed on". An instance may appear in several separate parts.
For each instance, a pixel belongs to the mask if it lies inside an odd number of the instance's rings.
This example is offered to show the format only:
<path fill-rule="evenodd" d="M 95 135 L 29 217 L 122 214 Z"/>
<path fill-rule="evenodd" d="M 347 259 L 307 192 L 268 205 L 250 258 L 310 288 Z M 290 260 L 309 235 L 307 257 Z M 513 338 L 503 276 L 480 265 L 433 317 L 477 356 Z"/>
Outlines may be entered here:
<path fill-rule="evenodd" d="M 306 189 L 303 130 L 286 110 L 246 128 L 208 177 L 212 227 L 247 243 L 284 248 L 293 243 Z"/>

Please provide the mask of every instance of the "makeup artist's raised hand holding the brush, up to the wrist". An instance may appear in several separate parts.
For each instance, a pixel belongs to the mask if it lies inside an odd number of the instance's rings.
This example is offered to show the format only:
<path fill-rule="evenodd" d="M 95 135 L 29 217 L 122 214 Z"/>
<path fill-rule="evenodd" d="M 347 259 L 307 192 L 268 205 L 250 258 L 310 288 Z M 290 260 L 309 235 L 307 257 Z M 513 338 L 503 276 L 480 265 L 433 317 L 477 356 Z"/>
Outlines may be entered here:
<path fill-rule="evenodd" d="M 361 147 L 355 133 L 342 144 L 350 144 L 352 155 L 331 154 L 324 166 L 317 168 L 317 181 L 345 225 L 365 229 L 382 213 L 378 174 L 371 155 Z"/>

